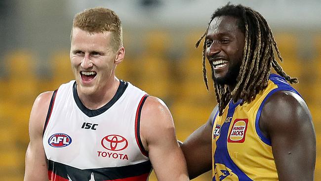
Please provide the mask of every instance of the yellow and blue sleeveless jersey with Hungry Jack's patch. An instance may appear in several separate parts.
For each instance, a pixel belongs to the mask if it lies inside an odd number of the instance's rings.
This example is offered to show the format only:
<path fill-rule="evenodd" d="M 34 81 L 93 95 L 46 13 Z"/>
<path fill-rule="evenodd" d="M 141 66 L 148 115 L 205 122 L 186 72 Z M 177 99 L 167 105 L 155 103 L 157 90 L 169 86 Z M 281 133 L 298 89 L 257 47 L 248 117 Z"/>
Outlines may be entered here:
<path fill-rule="evenodd" d="M 213 181 L 277 181 L 271 140 L 259 129 L 265 101 L 274 92 L 299 94 L 279 75 L 271 74 L 268 87 L 250 103 L 230 103 L 212 122 Z"/>

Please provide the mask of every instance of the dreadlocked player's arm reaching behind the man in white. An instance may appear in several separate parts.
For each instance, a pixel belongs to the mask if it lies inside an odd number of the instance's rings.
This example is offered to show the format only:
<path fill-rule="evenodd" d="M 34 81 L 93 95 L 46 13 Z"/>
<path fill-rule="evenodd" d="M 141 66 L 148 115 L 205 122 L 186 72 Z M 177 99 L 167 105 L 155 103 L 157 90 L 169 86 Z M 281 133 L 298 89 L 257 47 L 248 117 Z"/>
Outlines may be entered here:
<path fill-rule="evenodd" d="M 213 109 L 207 122 L 190 135 L 181 145 L 190 179 L 194 179 L 212 169 L 211 124 L 217 109 L 218 106 Z"/>

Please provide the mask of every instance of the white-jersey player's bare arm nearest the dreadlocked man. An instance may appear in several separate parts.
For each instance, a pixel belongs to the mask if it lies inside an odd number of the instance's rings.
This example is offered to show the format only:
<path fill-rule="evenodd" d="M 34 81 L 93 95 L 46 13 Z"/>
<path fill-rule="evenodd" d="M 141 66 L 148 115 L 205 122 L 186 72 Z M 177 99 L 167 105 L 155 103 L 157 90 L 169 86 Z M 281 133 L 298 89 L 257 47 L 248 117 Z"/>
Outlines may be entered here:
<path fill-rule="evenodd" d="M 176 141 L 173 118 L 166 105 L 149 96 L 142 108 L 140 135 L 158 181 L 188 181 L 186 161 Z"/>

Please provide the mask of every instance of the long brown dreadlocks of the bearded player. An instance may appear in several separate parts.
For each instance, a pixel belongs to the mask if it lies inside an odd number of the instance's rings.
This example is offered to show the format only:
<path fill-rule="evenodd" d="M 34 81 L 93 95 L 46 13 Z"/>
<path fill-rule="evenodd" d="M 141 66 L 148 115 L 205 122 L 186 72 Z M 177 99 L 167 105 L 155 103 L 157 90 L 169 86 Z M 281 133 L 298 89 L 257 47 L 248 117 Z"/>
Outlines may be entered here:
<path fill-rule="evenodd" d="M 219 85 L 214 81 L 215 95 L 219 104 L 220 116 L 231 99 L 234 102 L 242 99 L 242 105 L 244 102 L 251 102 L 259 91 L 264 90 L 268 86 L 271 67 L 289 83 L 298 83 L 298 79 L 288 76 L 276 60 L 273 48 L 276 50 L 278 58 L 283 61 L 267 21 L 259 12 L 241 4 L 234 5 L 229 2 L 227 5 L 215 10 L 206 31 L 196 43 L 196 47 L 200 45 L 201 40 L 206 36 L 211 21 L 218 16 L 232 16 L 237 18 L 238 28 L 245 35 L 243 59 L 234 90 L 229 90 L 227 85 Z M 205 48 L 206 42 L 204 41 L 202 51 L 203 78 L 208 90 L 205 67 Z M 211 70 L 212 77 L 214 78 L 212 66 Z"/>

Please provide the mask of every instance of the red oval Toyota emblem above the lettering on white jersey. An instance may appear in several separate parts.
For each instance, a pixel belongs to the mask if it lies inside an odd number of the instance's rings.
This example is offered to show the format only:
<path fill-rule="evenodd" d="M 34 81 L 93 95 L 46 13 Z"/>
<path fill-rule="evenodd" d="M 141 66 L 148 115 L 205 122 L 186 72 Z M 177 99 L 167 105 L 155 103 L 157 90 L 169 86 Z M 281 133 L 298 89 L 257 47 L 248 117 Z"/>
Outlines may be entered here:
<path fill-rule="evenodd" d="M 111 151 L 120 151 L 128 146 L 128 141 L 120 135 L 108 135 L 101 140 L 101 145 Z"/>

